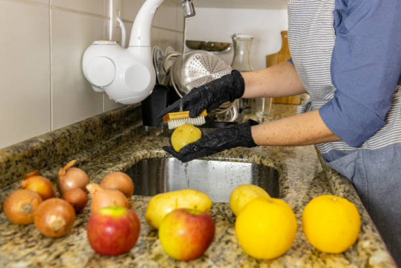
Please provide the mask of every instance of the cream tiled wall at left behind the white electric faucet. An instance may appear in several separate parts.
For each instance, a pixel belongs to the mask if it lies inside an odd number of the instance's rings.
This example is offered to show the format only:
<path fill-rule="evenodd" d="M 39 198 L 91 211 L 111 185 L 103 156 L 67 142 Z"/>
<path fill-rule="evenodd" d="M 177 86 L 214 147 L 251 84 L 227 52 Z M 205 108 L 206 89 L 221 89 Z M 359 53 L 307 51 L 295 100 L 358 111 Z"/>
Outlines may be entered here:
<path fill-rule="evenodd" d="M 119 105 L 95 93 L 81 71 L 82 54 L 106 39 L 111 0 L 0 0 L 0 148 Z M 122 0 L 127 40 L 145 0 Z M 152 45 L 182 51 L 183 11 L 165 0 Z"/>

